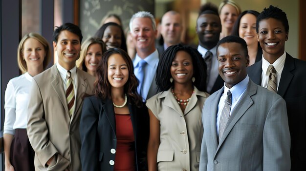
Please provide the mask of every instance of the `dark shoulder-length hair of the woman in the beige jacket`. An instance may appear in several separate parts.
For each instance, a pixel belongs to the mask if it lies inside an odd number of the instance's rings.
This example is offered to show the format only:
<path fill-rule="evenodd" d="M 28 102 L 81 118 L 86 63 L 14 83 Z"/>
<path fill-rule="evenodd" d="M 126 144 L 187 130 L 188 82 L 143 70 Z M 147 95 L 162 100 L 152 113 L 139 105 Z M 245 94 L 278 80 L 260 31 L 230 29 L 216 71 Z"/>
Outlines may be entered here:
<path fill-rule="evenodd" d="M 166 49 L 166 51 L 162 54 L 159 59 L 158 66 L 156 69 L 156 85 L 159 91 L 167 91 L 169 90 L 174 83 L 170 82 L 171 72 L 170 68 L 172 62 L 175 58 L 175 55 L 178 51 L 187 52 L 191 58 L 194 67 L 194 77 L 196 81 L 194 82 L 194 86 L 197 87 L 199 91 L 206 91 L 206 63 L 202 58 L 201 54 L 190 46 L 185 46 L 182 44 L 176 44 L 170 46 Z"/>

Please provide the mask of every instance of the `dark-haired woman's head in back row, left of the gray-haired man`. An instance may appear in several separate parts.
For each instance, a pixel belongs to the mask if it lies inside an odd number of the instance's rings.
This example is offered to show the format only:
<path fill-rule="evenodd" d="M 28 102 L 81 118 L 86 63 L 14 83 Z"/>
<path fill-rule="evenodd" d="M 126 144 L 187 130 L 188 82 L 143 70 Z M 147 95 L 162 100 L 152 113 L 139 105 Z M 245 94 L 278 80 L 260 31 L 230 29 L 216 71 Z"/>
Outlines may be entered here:
<path fill-rule="evenodd" d="M 102 38 L 106 44 L 106 48 L 121 48 L 127 52 L 126 38 L 120 25 L 109 22 L 103 24 L 95 33 L 94 37 Z"/>

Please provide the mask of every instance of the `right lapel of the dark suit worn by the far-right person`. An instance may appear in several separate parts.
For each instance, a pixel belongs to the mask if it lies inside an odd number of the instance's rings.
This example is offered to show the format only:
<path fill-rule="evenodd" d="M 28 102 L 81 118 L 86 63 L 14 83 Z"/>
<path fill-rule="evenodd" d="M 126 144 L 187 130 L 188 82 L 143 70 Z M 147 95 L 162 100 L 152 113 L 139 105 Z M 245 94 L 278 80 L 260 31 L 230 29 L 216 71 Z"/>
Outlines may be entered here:
<path fill-rule="evenodd" d="M 293 78 L 293 74 L 291 74 L 291 71 L 294 69 L 295 69 L 294 59 L 293 57 L 291 57 L 289 54 L 286 53 L 284 69 L 283 72 L 281 73 L 281 80 L 277 90 L 277 94 L 281 95 L 282 97 L 284 96 Z"/>

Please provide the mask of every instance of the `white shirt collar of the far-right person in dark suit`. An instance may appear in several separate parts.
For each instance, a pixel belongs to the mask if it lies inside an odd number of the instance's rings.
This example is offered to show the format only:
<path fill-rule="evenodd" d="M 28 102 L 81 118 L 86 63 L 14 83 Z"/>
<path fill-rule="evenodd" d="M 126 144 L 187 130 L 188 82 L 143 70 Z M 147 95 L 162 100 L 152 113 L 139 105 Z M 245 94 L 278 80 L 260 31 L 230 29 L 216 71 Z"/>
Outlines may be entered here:
<path fill-rule="evenodd" d="M 275 68 L 276 72 L 281 75 L 284 69 L 284 64 L 285 64 L 285 59 L 286 59 L 286 52 L 279 57 L 272 65 Z M 265 71 L 265 75 L 268 76 L 270 73 L 268 71 L 268 67 L 271 64 L 263 57 L 262 54 L 262 71 Z"/>

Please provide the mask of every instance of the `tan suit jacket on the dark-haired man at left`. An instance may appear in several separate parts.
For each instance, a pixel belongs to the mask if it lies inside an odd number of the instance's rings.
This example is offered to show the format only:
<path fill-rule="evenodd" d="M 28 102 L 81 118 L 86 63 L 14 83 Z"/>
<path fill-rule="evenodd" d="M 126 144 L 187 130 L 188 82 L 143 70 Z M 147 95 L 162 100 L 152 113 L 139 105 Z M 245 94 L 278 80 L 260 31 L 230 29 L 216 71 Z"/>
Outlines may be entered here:
<path fill-rule="evenodd" d="M 27 133 L 36 171 L 81 171 L 79 124 L 84 93 L 93 94 L 94 77 L 77 69 L 77 96 L 71 119 L 60 73 L 53 65 L 32 81 Z M 49 167 L 46 162 L 55 156 Z"/>

